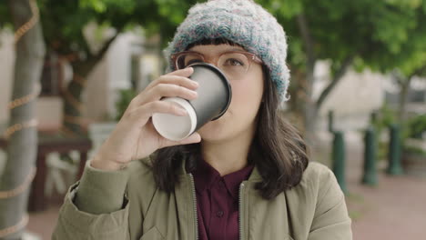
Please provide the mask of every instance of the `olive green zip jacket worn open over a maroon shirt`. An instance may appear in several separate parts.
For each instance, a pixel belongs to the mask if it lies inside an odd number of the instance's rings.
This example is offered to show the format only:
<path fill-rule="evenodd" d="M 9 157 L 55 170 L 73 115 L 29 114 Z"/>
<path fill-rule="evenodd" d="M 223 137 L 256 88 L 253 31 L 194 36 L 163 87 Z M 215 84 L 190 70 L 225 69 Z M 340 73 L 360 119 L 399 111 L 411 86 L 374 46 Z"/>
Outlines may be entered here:
<path fill-rule="evenodd" d="M 179 184 L 167 194 L 143 161 L 111 172 L 86 165 L 65 197 L 53 239 L 197 239 L 192 175 L 182 166 Z M 240 185 L 240 239 L 352 239 L 345 197 L 326 166 L 309 163 L 299 185 L 272 200 L 259 195 L 259 181 L 255 167 Z"/>

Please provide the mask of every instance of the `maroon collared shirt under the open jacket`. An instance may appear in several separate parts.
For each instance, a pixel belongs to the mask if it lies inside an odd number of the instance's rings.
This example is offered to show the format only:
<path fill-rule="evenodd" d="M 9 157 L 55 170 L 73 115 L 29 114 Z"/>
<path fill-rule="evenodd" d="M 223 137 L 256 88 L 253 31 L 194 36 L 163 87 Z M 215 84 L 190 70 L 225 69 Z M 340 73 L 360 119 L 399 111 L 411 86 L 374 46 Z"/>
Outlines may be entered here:
<path fill-rule="evenodd" d="M 192 173 L 197 193 L 198 237 L 200 240 L 238 239 L 238 190 L 247 180 L 253 165 L 220 176 L 204 160 Z"/>

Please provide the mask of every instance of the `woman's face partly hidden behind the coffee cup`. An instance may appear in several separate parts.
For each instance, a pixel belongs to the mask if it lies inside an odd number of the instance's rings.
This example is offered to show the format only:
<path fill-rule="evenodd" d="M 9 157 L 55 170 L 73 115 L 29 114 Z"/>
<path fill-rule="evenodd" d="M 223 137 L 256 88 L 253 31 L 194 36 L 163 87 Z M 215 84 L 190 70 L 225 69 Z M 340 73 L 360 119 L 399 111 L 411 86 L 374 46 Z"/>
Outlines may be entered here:
<path fill-rule="evenodd" d="M 228 51 L 245 51 L 236 45 L 196 45 L 189 51 L 204 55 L 206 62 L 215 65 L 218 56 Z M 256 115 L 263 94 L 264 76 L 262 66 L 250 61 L 249 70 L 239 78 L 228 80 L 232 88 L 232 100 L 228 111 L 218 120 L 202 126 L 198 133 L 203 141 L 216 142 L 229 140 L 240 135 L 249 135 L 255 130 Z"/>

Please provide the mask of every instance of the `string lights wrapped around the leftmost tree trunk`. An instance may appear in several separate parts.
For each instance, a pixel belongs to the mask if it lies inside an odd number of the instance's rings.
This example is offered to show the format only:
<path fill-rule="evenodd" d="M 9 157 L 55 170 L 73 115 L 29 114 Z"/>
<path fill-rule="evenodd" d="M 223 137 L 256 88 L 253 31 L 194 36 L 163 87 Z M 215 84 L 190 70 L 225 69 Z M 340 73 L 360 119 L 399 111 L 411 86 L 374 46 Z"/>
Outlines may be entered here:
<path fill-rule="evenodd" d="M 40 19 L 38 7 L 36 5 L 35 0 L 28 0 L 28 2 L 30 5 L 32 16 L 24 25 L 22 25 L 15 31 L 15 41 L 14 41 L 15 45 L 18 43 L 18 41 L 21 39 L 23 35 L 25 35 L 30 29 L 32 29 L 35 26 L 35 24 Z M 12 110 L 12 109 L 15 109 L 16 107 L 19 107 L 21 105 L 26 105 L 34 101 L 36 97 L 40 94 L 40 90 L 41 90 L 40 85 L 36 84 L 35 91 L 33 93 L 12 100 L 7 105 L 8 109 Z M 5 130 L 5 139 L 9 139 L 11 135 L 25 128 L 36 127 L 36 126 L 37 126 L 37 120 L 34 118 L 24 123 L 11 125 L 7 127 L 7 129 Z M 33 181 L 35 177 L 35 172 L 36 172 L 35 167 L 33 167 L 30 170 L 29 175 L 25 177 L 25 181 L 21 185 L 18 185 L 17 187 L 11 190 L 0 191 L 0 199 L 15 197 L 16 195 L 21 195 L 22 193 L 24 193 L 25 190 L 29 187 L 29 185 L 31 185 L 31 182 Z M 4 229 L 0 229 L 0 237 L 4 237 L 6 235 L 13 235 L 19 232 L 21 229 L 25 228 L 27 224 L 28 224 L 28 215 L 25 214 L 23 218 L 17 224 L 8 226 Z"/>

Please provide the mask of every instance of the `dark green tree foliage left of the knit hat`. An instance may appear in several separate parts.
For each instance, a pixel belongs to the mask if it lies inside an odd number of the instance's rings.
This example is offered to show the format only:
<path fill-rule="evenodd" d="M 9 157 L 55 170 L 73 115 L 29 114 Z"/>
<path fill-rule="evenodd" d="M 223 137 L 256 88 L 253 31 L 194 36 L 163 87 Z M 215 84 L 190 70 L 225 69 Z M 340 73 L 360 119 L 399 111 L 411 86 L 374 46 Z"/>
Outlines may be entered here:
<path fill-rule="evenodd" d="M 196 0 L 37 0 L 46 45 L 60 55 L 89 54 L 82 31 L 88 23 L 124 31 L 142 26 L 148 34 L 160 33 L 169 41 Z M 0 2 L 0 27 L 11 19 Z"/>

